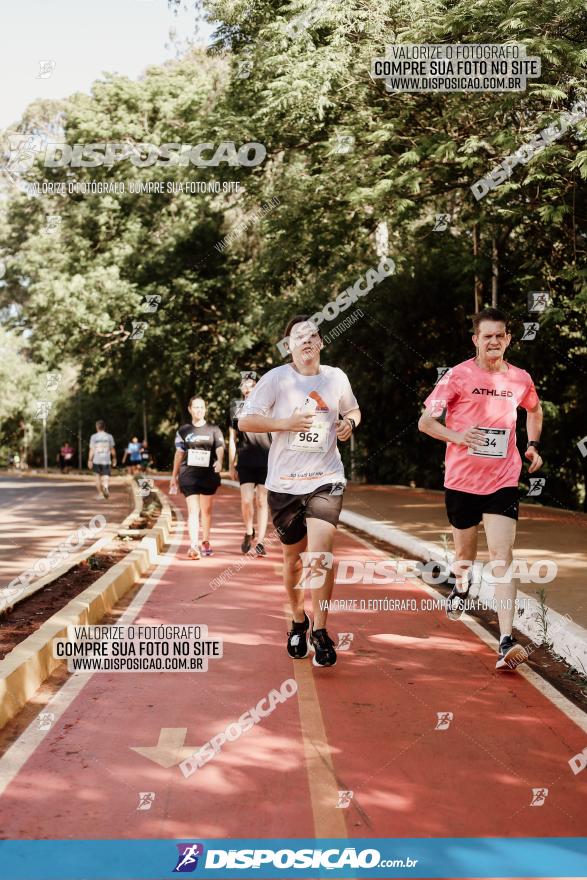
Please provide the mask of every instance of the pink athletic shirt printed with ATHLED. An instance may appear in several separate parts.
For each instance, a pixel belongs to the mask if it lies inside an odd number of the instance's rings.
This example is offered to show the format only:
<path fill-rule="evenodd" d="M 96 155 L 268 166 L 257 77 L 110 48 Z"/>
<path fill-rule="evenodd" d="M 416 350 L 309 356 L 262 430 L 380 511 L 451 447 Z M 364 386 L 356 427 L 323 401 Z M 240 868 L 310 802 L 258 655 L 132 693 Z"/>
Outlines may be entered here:
<path fill-rule="evenodd" d="M 489 495 L 518 485 L 522 459 L 516 446 L 517 408 L 532 410 L 539 398 L 529 373 L 506 366 L 507 373 L 490 373 L 474 358 L 463 361 L 445 373 L 426 398 L 426 409 L 435 418 L 446 409 L 446 427 L 452 431 L 487 429 L 484 445 L 475 447 L 475 454 L 467 446 L 446 444 L 447 489 Z"/>

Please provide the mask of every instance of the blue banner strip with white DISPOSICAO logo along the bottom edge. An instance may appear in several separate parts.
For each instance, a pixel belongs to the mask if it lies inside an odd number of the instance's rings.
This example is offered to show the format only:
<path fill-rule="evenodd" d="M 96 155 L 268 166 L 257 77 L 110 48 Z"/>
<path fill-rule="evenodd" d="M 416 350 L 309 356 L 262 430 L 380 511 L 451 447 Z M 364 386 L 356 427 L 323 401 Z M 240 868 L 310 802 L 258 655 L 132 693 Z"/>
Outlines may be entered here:
<path fill-rule="evenodd" d="M 587 877 L 587 837 L 2 840 L 6 880 Z"/>

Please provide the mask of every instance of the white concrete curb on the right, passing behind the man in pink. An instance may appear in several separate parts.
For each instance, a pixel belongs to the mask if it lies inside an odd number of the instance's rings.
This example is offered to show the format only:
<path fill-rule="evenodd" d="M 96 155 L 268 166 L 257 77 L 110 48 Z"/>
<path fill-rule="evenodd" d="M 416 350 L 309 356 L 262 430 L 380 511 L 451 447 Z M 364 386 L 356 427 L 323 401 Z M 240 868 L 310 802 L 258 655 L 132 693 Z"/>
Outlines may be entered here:
<path fill-rule="evenodd" d="M 362 532 L 397 547 L 410 559 L 421 562 L 442 561 L 452 562 L 454 554 L 433 541 L 422 541 L 414 538 L 401 529 L 394 529 L 385 523 L 377 522 L 360 513 L 343 510 L 340 521 L 344 525 L 360 529 Z M 478 598 L 480 602 L 491 603 L 494 597 L 493 584 L 482 581 Z M 476 597 L 477 598 L 477 597 Z M 544 640 L 544 624 L 540 603 L 527 593 L 518 590 L 520 607 L 517 609 L 514 624 L 516 628 L 528 636 L 537 646 Z M 559 614 L 552 608 L 546 610 L 547 640 L 552 642 L 553 650 L 563 657 L 567 663 L 580 672 L 587 671 L 587 630 L 571 620 L 568 615 Z"/>

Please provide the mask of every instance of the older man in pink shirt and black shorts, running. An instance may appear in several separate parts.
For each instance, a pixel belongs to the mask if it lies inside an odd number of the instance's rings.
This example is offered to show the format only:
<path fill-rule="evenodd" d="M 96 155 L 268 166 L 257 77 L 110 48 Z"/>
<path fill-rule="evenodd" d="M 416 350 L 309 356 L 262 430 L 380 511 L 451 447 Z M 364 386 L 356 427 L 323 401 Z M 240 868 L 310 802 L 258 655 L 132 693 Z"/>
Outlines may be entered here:
<path fill-rule="evenodd" d="M 516 445 L 517 410 L 526 410 L 525 456 L 529 472 L 535 473 L 542 466 L 542 407 L 530 375 L 504 360 L 512 338 L 505 314 L 498 309 L 478 312 L 473 331 L 476 356 L 442 377 L 426 398 L 418 427 L 446 443 L 446 510 L 456 556 L 448 616 L 458 620 L 463 612 L 483 521 L 493 571 L 499 579 L 495 588 L 500 628 L 496 669 L 513 669 L 528 656 L 512 637 L 516 588 L 511 564 L 522 470 Z M 445 424 L 440 421 L 443 413 Z"/>

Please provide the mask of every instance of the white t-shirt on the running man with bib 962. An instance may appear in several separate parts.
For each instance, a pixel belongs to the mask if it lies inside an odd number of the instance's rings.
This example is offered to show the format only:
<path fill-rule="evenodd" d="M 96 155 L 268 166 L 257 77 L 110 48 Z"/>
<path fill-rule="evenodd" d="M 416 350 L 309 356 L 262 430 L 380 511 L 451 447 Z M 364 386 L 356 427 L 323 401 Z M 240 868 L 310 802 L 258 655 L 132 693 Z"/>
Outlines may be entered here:
<path fill-rule="evenodd" d="M 338 367 L 323 365 L 314 376 L 298 373 L 291 364 L 269 370 L 245 401 L 241 417 L 285 419 L 312 412 L 314 418 L 308 431 L 272 433 L 267 488 L 305 495 L 326 483 L 344 483 L 335 423 L 339 415 L 357 408 L 348 377 Z"/>

